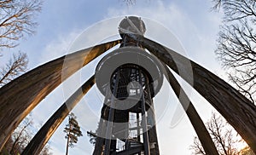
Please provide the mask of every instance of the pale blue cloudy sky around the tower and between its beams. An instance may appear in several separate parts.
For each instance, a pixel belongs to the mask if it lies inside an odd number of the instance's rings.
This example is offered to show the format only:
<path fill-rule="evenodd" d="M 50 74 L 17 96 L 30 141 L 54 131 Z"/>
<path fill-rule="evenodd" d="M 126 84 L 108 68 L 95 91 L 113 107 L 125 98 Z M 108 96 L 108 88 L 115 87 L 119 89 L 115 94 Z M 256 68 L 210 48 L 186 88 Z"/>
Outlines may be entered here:
<path fill-rule="evenodd" d="M 0 65 L 3 65 L 13 53 L 22 51 L 28 55 L 29 69 L 33 69 L 76 49 L 112 40 L 118 37 L 119 21 L 125 16 L 136 15 L 142 17 L 146 24 L 146 37 L 176 50 L 218 77 L 226 79 L 224 70 L 214 54 L 222 14 L 211 10 L 211 2 L 140 0 L 133 5 L 127 5 L 122 0 L 45 0 L 42 11 L 38 14 L 36 34 L 26 37 L 15 49 L 4 52 L 3 57 L 0 57 Z M 69 95 L 90 78 L 100 59 L 85 66 L 48 95 L 32 111 L 35 122 L 44 124 Z M 212 106 L 189 88 L 182 79 L 179 79 L 179 82 L 206 122 L 211 117 Z M 84 136 L 79 138 L 78 144 L 69 150 L 69 154 L 91 154 L 93 151 L 86 131 L 96 129 L 102 100 L 102 95 L 93 87 L 73 109 Z M 154 104 L 161 154 L 191 154 L 189 146 L 193 143 L 195 131 L 184 112 L 174 121 L 175 123 L 171 123 L 175 112 L 181 107 L 166 81 L 155 97 Z M 67 120 L 49 140 L 53 154 L 61 155 L 66 151 L 63 132 L 66 123 Z M 37 128 L 39 129 L 39 126 Z"/>

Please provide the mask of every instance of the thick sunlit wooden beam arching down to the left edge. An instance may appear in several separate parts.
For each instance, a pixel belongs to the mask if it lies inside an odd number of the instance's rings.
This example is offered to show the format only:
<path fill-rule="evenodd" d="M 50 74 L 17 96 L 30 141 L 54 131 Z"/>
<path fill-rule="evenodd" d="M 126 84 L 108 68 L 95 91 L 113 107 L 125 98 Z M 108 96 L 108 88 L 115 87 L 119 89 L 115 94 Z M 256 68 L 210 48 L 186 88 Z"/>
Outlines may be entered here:
<path fill-rule="evenodd" d="M 0 89 L 0 150 L 21 120 L 46 95 L 81 67 L 119 43 L 119 40 L 82 49 L 26 72 Z"/>

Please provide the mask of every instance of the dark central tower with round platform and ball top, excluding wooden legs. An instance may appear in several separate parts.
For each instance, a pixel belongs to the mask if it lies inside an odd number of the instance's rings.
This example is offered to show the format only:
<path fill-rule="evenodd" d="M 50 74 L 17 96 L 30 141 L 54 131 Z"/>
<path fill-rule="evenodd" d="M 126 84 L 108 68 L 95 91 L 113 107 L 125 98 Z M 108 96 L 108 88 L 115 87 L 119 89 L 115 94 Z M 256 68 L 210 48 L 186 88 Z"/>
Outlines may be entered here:
<path fill-rule="evenodd" d="M 158 77 L 159 84 L 155 91 L 153 77 L 144 68 L 146 66 L 131 61 L 124 62 L 129 56 L 129 60 L 140 57 L 141 61 L 151 63 L 154 59 L 146 55 L 146 51 L 138 43 L 125 35 L 123 31 L 128 29 L 141 35 L 145 32 L 143 21 L 137 17 L 122 20 L 119 25 L 120 36 L 123 38 L 120 48 L 106 55 L 96 68 L 97 87 L 105 95 L 105 100 L 93 154 L 159 154 L 152 98 L 160 89 L 163 77 Z M 130 48 L 125 50 L 127 47 Z M 138 56 L 139 53 L 143 55 Z M 122 55 L 125 55 L 124 59 L 121 59 Z M 122 60 L 122 63 L 116 62 L 118 60 Z M 109 70 L 108 64 L 114 64 L 113 72 Z M 155 72 L 160 72 L 156 69 L 160 66 L 154 65 Z M 104 79 L 103 76 L 107 78 Z M 102 129 L 103 127 L 105 129 Z M 121 146 L 118 143 L 121 143 Z"/>

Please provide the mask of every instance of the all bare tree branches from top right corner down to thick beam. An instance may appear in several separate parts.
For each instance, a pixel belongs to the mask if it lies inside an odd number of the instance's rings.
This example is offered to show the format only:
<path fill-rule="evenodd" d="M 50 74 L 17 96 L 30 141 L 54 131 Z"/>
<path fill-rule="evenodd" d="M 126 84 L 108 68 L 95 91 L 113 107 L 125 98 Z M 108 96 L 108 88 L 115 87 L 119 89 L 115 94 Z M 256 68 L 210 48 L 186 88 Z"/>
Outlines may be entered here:
<path fill-rule="evenodd" d="M 215 50 L 229 78 L 252 102 L 256 99 L 256 1 L 213 0 L 213 9 L 223 9 L 224 26 Z"/>

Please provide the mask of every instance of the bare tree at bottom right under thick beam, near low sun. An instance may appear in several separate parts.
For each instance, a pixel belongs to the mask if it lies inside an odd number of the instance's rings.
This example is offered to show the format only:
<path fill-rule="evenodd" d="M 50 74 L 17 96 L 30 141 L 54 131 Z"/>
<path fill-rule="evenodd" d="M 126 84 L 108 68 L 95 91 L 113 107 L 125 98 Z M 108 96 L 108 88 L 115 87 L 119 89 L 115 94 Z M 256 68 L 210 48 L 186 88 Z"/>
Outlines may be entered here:
<path fill-rule="evenodd" d="M 212 113 L 212 118 L 207 122 L 207 129 L 219 154 L 238 155 L 241 152 L 236 148 L 236 145 L 243 143 L 241 136 L 236 133 L 224 118 Z M 195 137 L 193 145 L 190 146 L 190 150 L 193 151 L 193 154 L 206 154 L 197 137 Z"/>

